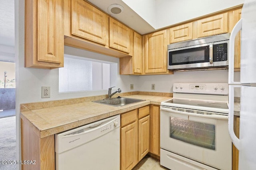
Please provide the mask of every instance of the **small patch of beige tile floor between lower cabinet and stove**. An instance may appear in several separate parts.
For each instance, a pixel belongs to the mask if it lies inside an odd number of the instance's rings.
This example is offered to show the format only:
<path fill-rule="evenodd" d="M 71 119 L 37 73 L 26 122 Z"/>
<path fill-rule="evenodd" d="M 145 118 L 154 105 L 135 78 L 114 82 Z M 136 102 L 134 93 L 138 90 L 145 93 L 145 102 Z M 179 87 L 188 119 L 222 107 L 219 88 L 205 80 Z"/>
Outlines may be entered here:
<path fill-rule="evenodd" d="M 160 160 L 146 155 L 132 170 L 169 170 L 160 165 Z"/>

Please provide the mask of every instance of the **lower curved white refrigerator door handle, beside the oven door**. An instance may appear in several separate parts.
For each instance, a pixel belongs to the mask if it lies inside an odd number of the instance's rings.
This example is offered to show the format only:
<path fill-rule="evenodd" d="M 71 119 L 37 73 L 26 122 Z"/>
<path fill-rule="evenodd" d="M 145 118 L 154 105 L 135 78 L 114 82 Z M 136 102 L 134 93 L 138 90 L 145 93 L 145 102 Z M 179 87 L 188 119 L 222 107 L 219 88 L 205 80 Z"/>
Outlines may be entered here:
<path fill-rule="evenodd" d="M 241 88 L 241 85 L 229 85 L 229 98 L 228 98 L 228 131 L 232 143 L 236 149 L 240 150 L 240 139 L 236 137 L 234 132 L 234 88 Z"/>

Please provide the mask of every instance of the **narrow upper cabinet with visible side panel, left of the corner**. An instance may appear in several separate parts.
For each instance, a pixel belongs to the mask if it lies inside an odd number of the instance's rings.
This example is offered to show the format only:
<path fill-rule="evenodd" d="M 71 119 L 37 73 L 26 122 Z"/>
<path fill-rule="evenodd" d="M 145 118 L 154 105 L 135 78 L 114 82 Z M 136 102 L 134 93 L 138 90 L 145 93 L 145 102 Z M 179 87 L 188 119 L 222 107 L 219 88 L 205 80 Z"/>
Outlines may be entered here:
<path fill-rule="evenodd" d="M 122 57 L 120 62 L 120 74 L 142 73 L 142 36 L 134 32 L 133 56 Z"/>

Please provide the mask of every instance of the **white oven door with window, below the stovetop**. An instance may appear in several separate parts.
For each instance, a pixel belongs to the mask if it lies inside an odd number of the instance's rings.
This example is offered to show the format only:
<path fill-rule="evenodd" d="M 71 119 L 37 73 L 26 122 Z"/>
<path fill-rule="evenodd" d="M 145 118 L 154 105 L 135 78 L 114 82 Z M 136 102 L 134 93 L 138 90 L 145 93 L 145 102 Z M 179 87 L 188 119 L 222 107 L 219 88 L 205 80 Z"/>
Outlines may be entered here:
<path fill-rule="evenodd" d="M 188 113 L 165 106 L 160 108 L 161 149 L 218 169 L 231 170 L 228 116 Z"/>

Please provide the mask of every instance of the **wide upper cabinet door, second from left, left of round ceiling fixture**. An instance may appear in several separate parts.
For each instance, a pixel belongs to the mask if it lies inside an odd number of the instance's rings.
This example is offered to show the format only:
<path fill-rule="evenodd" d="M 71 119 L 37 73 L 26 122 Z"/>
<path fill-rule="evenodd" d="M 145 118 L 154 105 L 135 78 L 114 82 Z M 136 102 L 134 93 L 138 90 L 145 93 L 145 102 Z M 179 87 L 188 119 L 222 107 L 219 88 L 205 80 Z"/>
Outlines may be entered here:
<path fill-rule="evenodd" d="M 71 1 L 71 33 L 106 45 L 108 16 L 84 0 Z"/>

